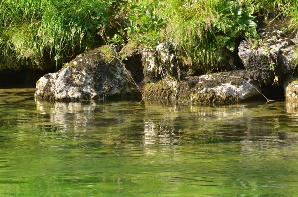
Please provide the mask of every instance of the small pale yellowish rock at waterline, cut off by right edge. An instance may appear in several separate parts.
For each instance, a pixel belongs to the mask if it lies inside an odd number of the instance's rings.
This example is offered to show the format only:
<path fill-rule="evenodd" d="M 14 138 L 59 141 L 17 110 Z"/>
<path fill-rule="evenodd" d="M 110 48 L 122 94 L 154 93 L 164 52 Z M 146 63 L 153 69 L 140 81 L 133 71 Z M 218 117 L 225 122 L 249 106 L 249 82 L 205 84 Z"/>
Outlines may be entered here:
<path fill-rule="evenodd" d="M 284 82 L 284 93 L 287 101 L 298 101 L 298 76 L 289 76 Z"/>

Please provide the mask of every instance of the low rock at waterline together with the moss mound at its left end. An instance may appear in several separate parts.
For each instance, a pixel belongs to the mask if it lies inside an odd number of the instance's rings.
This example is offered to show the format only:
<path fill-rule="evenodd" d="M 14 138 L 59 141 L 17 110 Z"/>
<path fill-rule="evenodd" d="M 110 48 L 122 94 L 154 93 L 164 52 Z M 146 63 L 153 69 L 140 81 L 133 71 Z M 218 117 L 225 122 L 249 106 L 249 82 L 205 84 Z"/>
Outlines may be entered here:
<path fill-rule="evenodd" d="M 147 83 L 143 95 L 145 100 L 238 103 L 258 95 L 259 92 L 254 87 L 259 89 L 258 83 L 249 79 L 247 71 L 237 70 L 191 77 L 180 82 L 164 78 L 155 83 Z"/>

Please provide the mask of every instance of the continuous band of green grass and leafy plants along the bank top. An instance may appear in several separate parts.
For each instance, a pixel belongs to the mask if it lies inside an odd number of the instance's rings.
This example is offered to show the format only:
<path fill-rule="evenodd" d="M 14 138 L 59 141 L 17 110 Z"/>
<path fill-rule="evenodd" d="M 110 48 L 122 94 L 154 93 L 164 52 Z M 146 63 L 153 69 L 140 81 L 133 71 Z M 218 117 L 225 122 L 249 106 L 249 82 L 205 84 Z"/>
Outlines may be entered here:
<path fill-rule="evenodd" d="M 127 56 L 167 39 L 197 69 L 211 70 L 226 64 L 240 39 L 260 38 L 257 15 L 290 17 L 297 30 L 297 14 L 296 0 L 3 0 L 0 55 L 57 61 L 104 40 Z M 118 33 L 107 35 L 107 26 Z"/>

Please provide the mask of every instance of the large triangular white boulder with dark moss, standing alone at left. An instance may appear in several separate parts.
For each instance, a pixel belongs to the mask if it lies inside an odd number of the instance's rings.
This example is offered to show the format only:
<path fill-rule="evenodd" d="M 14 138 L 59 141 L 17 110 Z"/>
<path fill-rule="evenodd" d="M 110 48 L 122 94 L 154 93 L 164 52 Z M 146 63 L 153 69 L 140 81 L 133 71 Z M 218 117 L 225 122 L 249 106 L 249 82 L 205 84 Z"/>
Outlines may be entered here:
<path fill-rule="evenodd" d="M 78 55 L 60 71 L 41 77 L 35 98 L 42 100 L 94 100 L 131 94 L 130 73 L 103 46 Z"/>

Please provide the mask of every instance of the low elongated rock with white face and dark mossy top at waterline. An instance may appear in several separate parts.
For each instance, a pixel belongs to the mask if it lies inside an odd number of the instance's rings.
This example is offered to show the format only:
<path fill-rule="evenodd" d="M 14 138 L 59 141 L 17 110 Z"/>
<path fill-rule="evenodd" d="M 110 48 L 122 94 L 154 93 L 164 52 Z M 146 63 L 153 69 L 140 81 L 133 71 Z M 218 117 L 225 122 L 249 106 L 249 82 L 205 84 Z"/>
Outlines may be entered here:
<path fill-rule="evenodd" d="M 237 70 L 189 78 L 179 84 L 177 94 L 178 100 L 186 102 L 238 103 L 259 94 L 252 85 L 258 88 L 246 70 Z"/>

